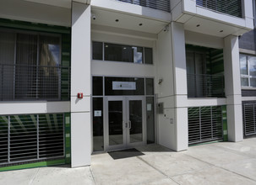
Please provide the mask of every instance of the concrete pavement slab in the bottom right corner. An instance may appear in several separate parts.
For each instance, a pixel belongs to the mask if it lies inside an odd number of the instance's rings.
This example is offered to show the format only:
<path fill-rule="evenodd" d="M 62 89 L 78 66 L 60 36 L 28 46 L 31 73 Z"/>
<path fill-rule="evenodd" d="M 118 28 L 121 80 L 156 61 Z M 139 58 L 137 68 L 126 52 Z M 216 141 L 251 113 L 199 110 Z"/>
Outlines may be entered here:
<path fill-rule="evenodd" d="M 232 172 L 228 172 L 216 166 L 211 166 L 204 170 L 187 173 L 173 177 L 175 182 L 181 185 L 253 185 L 255 181 L 242 177 Z"/>

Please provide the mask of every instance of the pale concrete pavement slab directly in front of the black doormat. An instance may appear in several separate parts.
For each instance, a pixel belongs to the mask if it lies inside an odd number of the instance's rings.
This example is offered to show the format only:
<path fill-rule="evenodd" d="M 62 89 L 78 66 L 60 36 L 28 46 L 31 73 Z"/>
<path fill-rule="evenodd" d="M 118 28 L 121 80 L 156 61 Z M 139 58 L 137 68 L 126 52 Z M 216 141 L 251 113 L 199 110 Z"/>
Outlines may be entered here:
<path fill-rule="evenodd" d="M 96 184 L 176 184 L 138 157 L 113 160 L 108 154 L 94 155 L 91 169 Z"/>

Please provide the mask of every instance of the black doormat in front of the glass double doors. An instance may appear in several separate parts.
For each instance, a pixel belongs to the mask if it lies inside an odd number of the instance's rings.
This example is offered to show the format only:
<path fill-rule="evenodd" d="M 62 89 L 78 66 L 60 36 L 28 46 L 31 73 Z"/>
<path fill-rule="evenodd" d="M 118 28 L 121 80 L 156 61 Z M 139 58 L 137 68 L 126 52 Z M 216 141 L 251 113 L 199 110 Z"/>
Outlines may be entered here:
<path fill-rule="evenodd" d="M 128 149 L 128 150 L 123 150 L 123 151 L 109 151 L 108 154 L 112 156 L 114 160 L 116 159 L 124 159 L 128 157 L 133 157 L 133 156 L 143 156 L 144 153 L 141 151 L 138 151 L 135 148 Z"/>

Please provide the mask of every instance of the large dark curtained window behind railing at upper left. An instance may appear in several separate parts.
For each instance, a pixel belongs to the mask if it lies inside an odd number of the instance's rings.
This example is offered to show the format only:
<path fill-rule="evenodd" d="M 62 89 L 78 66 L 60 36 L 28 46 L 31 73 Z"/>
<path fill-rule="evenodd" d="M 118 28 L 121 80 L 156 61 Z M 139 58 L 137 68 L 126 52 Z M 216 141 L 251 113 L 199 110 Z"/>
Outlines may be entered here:
<path fill-rule="evenodd" d="M 0 30 L 0 100 L 61 96 L 61 37 Z"/>

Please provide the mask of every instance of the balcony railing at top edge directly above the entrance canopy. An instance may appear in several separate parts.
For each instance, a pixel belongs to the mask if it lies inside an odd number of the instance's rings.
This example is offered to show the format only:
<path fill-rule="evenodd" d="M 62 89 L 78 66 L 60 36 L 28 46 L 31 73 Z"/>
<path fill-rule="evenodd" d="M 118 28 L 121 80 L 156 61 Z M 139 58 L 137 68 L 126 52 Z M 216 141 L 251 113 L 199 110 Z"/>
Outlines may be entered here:
<path fill-rule="evenodd" d="M 117 0 L 119 2 L 137 4 L 142 7 L 170 12 L 170 0 Z"/>

